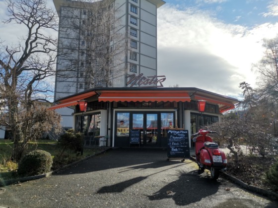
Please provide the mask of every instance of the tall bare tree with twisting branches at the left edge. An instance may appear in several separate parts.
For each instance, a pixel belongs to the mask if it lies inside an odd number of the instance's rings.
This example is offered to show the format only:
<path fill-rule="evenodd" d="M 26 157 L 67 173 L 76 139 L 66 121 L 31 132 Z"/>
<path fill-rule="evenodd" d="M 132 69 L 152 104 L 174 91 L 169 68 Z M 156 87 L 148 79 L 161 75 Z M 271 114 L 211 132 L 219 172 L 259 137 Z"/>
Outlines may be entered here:
<path fill-rule="evenodd" d="M 45 0 L 7 0 L 8 19 L 27 29 L 14 47 L 0 47 L 0 125 L 11 130 L 14 141 L 12 158 L 19 160 L 24 143 L 32 138 L 35 101 L 48 101 L 52 89 L 49 78 L 55 75 L 57 39 L 47 35 L 57 30 L 56 12 Z M 51 112 L 49 111 L 51 114 Z M 57 116 L 57 115 L 55 115 Z M 47 114 L 40 118 L 42 123 Z M 34 131 L 33 131 L 34 132 Z"/>

